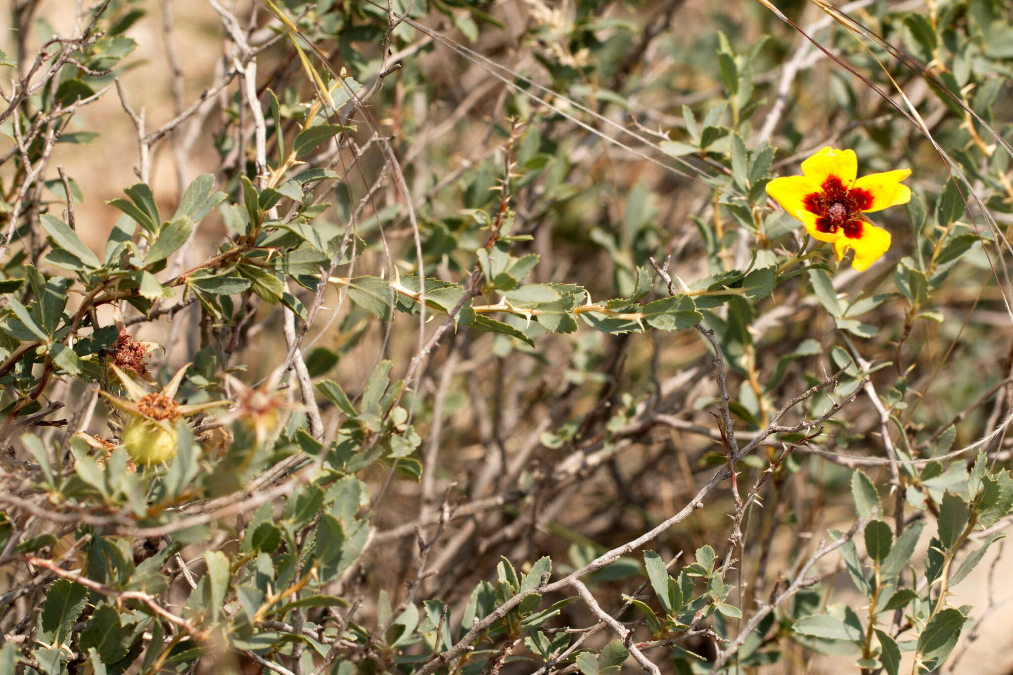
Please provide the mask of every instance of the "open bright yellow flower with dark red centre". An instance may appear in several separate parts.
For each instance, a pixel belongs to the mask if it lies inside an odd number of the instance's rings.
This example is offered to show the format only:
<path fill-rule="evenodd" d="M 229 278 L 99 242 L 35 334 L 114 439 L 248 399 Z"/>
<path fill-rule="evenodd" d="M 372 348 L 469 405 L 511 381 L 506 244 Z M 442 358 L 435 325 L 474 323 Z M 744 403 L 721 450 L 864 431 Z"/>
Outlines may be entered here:
<path fill-rule="evenodd" d="M 802 222 L 813 239 L 834 244 L 840 260 L 855 251 L 851 266 L 862 271 L 889 248 L 889 233 L 862 214 L 908 203 L 911 189 L 901 183 L 911 169 L 858 176 L 853 150 L 824 148 L 802 162 L 801 176 L 775 178 L 767 194 Z"/>

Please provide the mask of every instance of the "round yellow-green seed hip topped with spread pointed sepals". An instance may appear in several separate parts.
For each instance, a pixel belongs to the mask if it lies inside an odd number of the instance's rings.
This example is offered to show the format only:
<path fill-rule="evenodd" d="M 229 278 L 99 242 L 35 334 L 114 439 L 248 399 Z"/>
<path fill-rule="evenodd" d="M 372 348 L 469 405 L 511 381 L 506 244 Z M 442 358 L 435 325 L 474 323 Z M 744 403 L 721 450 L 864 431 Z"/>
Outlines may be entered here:
<path fill-rule="evenodd" d="M 120 377 L 129 398 L 121 399 L 107 392 L 99 394 L 129 416 L 120 439 L 127 454 L 139 465 L 163 465 L 176 455 L 179 450 L 179 432 L 176 430 L 178 420 L 229 403 L 211 401 L 190 406 L 176 403 L 173 399 L 189 363 L 179 368 L 165 389 L 153 393 L 145 391 L 136 379 L 118 366 L 110 367 Z"/>

